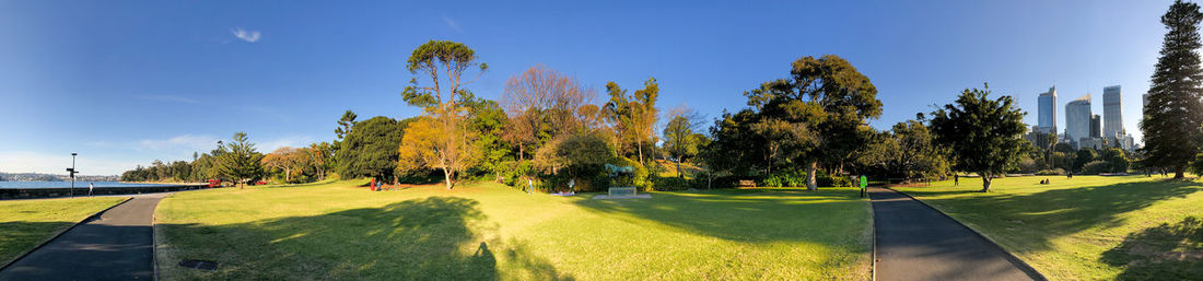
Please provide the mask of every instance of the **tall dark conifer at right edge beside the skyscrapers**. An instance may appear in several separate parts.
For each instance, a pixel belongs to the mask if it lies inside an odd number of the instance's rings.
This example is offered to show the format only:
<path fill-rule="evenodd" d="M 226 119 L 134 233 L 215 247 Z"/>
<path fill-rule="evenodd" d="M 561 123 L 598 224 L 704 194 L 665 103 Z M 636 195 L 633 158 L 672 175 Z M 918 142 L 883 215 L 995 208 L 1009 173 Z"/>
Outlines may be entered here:
<path fill-rule="evenodd" d="M 1174 179 L 1181 179 L 1187 163 L 1198 154 L 1203 139 L 1203 67 L 1198 25 L 1203 20 L 1199 6 L 1174 1 L 1161 16 L 1166 37 L 1161 58 L 1152 72 L 1149 102 L 1144 107 L 1145 166 L 1172 167 Z"/>

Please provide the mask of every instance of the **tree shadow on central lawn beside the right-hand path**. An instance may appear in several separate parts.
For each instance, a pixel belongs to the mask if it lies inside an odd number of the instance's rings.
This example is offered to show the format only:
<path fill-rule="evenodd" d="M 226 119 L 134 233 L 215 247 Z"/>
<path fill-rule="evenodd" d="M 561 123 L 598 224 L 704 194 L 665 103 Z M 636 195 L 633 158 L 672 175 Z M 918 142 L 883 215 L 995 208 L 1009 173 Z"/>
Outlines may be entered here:
<path fill-rule="evenodd" d="M 582 199 L 618 220 L 654 221 L 733 241 L 855 244 L 869 225 L 869 205 L 852 190 L 715 190 L 656 192 L 648 199 Z M 867 232 L 866 232 L 867 233 Z M 849 240 L 849 238 L 852 240 Z"/>

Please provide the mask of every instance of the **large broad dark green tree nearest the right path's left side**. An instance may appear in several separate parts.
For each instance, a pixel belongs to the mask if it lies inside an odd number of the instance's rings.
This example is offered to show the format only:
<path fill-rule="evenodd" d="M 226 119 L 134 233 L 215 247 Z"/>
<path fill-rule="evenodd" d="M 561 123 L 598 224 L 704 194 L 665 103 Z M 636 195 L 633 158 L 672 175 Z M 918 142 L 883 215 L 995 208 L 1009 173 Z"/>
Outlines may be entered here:
<path fill-rule="evenodd" d="M 764 83 L 745 96 L 764 118 L 807 131 L 808 147 L 817 148 L 799 159 L 807 167 L 808 190 L 817 187 L 820 162 L 831 172 L 842 172 L 845 162 L 873 137 L 867 120 L 882 114 L 877 88 L 869 77 L 831 54 L 798 59 L 789 79 Z"/>

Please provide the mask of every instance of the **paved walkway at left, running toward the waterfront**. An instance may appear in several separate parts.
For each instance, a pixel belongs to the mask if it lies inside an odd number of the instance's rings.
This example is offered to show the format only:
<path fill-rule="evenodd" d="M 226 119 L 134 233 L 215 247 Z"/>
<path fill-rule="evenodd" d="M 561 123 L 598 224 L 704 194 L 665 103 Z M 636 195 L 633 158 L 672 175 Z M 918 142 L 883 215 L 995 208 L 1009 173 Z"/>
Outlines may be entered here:
<path fill-rule="evenodd" d="M 0 271 L 0 280 L 153 280 L 152 222 L 170 193 L 132 196 Z"/>

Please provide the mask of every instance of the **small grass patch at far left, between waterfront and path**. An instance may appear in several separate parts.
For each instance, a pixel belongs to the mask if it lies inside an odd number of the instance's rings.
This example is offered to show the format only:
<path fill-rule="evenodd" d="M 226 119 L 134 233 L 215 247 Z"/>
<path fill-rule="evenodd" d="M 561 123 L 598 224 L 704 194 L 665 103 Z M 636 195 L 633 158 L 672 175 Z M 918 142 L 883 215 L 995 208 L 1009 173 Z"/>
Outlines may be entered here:
<path fill-rule="evenodd" d="M 124 197 L 0 201 L 0 264 L 7 264 Z"/>

